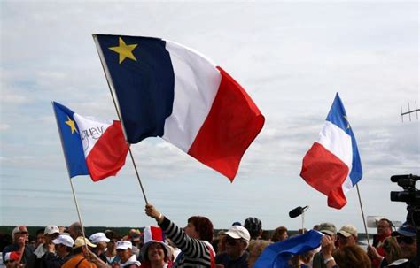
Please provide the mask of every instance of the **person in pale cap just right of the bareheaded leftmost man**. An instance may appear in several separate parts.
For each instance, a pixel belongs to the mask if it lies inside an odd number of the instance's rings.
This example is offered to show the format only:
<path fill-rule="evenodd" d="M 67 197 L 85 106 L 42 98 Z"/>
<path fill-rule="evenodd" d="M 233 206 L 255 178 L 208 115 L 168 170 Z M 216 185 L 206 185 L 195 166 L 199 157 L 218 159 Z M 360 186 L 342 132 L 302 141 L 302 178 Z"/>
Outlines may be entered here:
<path fill-rule="evenodd" d="M 27 268 L 40 268 L 44 267 L 43 265 L 43 256 L 47 252 L 54 251 L 54 244 L 52 240 L 56 239 L 59 235 L 58 226 L 46 226 L 45 230 L 43 231 L 43 244 L 39 245 L 34 254 L 29 258 L 27 261 Z"/>

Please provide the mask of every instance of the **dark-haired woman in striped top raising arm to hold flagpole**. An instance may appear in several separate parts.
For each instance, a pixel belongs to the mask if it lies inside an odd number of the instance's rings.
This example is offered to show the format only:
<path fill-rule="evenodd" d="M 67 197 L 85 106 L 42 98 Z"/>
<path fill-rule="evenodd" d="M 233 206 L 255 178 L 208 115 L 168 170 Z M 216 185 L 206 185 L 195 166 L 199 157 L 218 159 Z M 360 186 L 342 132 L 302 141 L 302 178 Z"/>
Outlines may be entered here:
<path fill-rule="evenodd" d="M 150 203 L 146 204 L 145 212 L 149 217 L 156 219 L 167 237 L 182 250 L 175 260 L 176 267 L 214 267 L 215 252 L 211 244 L 213 224 L 208 218 L 193 216 L 182 229 Z"/>

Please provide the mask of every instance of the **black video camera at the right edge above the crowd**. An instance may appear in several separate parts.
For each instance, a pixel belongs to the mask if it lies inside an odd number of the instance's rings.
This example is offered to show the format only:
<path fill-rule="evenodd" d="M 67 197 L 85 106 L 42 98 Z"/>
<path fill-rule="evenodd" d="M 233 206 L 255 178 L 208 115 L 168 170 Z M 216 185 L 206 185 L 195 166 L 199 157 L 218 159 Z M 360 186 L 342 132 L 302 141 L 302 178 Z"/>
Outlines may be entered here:
<path fill-rule="evenodd" d="M 420 227 L 420 190 L 416 188 L 416 181 L 420 176 L 413 174 L 394 175 L 391 181 L 396 182 L 403 191 L 392 191 L 391 201 L 407 203 L 407 221 L 417 228 Z"/>

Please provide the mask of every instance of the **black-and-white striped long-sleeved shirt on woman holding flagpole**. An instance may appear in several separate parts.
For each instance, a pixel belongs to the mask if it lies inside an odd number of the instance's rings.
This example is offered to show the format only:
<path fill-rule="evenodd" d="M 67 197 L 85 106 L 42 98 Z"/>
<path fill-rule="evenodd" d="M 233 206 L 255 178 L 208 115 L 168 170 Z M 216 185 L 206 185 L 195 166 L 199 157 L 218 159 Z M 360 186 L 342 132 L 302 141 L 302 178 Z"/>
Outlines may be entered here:
<path fill-rule="evenodd" d="M 191 238 L 166 217 L 159 226 L 176 247 L 183 251 L 175 267 L 212 267 L 210 250 L 214 256 L 214 249 L 209 242 Z"/>

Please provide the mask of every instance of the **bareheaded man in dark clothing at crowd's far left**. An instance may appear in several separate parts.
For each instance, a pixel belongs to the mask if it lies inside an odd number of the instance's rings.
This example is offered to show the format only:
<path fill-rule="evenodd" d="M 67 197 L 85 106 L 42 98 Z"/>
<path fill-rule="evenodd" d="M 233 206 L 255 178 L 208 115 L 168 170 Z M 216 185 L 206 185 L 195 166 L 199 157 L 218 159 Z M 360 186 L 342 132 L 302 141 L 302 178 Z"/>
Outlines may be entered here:
<path fill-rule="evenodd" d="M 29 232 L 27 232 L 27 226 L 16 226 L 12 230 L 12 245 L 6 246 L 3 249 L 3 259 L 7 252 L 18 251 L 21 255 L 20 263 L 26 264 L 27 260 L 32 255 L 32 249 L 29 247 Z"/>

